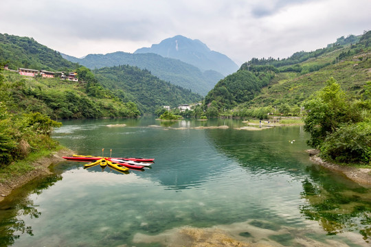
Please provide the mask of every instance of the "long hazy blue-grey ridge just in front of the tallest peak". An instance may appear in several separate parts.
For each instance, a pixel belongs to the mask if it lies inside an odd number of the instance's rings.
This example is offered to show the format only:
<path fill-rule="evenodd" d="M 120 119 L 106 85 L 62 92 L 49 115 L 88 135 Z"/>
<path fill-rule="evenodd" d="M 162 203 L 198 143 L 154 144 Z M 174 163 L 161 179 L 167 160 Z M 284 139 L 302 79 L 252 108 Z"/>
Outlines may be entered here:
<path fill-rule="evenodd" d="M 131 65 L 141 69 L 147 69 L 161 80 L 170 82 L 194 93 L 206 95 L 223 78 L 216 71 L 204 71 L 172 58 L 163 58 L 157 54 L 129 54 L 123 51 L 111 54 L 89 54 L 85 58 L 74 58 L 63 54 L 63 57 L 72 62 L 88 67 L 100 69 L 118 65 Z"/>

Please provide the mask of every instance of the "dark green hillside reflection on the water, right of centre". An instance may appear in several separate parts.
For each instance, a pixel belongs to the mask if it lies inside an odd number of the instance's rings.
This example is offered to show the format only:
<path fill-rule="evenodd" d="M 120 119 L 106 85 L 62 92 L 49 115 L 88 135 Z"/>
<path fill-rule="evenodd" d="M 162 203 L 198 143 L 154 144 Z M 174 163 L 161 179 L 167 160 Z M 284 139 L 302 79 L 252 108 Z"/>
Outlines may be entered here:
<path fill-rule="evenodd" d="M 272 128 L 262 131 L 210 131 L 207 137 L 223 154 L 252 173 L 284 171 L 304 174 L 308 164 L 304 133 L 300 128 Z M 291 141 L 295 140 L 293 144 Z M 301 159 L 302 158 L 302 159 Z"/>

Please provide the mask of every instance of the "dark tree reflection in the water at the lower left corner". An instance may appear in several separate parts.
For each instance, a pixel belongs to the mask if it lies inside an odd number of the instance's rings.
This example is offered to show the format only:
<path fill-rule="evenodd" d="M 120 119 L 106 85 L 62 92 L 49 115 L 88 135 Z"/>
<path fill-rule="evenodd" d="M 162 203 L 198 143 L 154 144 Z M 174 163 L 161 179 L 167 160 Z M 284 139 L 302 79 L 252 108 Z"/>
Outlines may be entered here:
<path fill-rule="evenodd" d="M 37 205 L 28 196 L 30 193 L 40 194 L 43 189 L 58 180 L 62 180 L 62 176 L 52 175 L 35 180 L 0 202 L 0 246 L 11 246 L 24 233 L 33 235 L 32 226 L 26 226 L 20 216 L 30 215 L 31 218 L 38 218 L 41 212 L 38 212 Z"/>

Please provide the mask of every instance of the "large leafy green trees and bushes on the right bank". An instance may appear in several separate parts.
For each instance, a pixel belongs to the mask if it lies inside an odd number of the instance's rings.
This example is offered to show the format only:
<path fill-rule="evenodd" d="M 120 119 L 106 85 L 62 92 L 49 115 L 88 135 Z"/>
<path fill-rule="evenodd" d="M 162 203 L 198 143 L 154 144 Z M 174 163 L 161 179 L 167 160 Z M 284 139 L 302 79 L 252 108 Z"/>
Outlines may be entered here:
<path fill-rule="evenodd" d="M 340 163 L 371 163 L 371 99 L 350 101 L 331 78 L 306 109 L 308 145 L 321 156 Z"/>

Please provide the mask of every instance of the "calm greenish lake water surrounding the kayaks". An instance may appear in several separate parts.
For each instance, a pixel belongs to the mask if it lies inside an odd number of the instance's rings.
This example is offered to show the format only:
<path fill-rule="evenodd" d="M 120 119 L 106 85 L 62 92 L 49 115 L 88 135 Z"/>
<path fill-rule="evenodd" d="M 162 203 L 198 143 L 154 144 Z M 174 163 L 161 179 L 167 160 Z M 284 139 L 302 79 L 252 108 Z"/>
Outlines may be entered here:
<path fill-rule="evenodd" d="M 108 127 L 126 124 L 125 127 Z M 227 129 L 194 128 L 222 126 Z M 120 174 L 65 161 L 0 202 L 3 246 L 186 246 L 184 226 L 276 246 L 368 246 L 371 191 L 308 160 L 302 127 L 236 130 L 237 120 L 64 121 L 78 154 L 155 158 Z M 293 141 L 295 140 L 295 141 Z M 304 243 L 304 244 L 303 244 Z"/>

